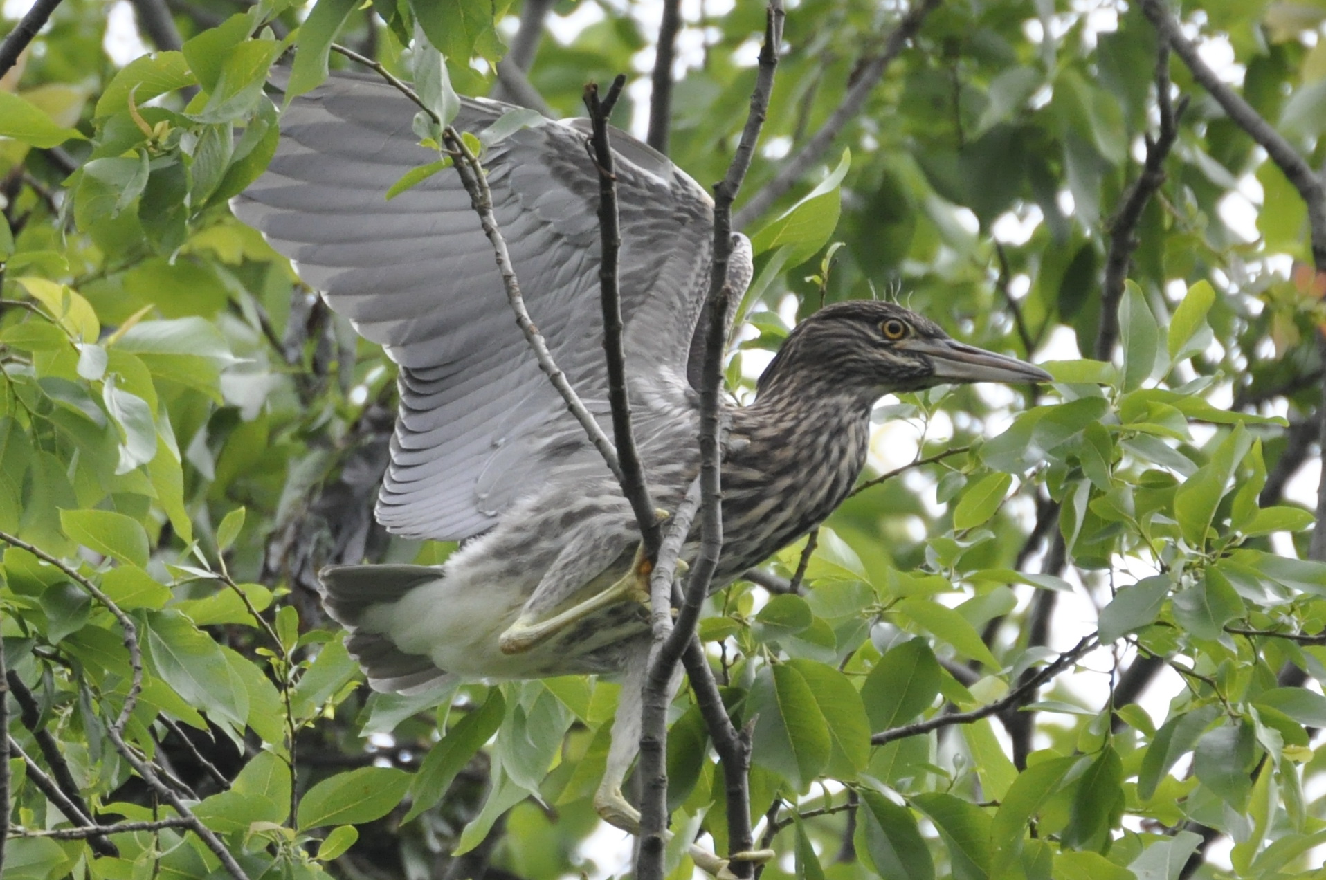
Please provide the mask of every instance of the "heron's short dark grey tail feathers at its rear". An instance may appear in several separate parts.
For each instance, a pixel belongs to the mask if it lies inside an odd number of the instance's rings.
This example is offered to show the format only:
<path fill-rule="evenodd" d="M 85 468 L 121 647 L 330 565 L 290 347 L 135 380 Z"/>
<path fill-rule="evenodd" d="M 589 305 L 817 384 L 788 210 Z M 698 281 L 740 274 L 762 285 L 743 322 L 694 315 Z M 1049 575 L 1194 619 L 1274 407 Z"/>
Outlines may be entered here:
<path fill-rule="evenodd" d="M 350 631 L 345 647 L 369 676 L 374 690 L 415 694 L 440 687 L 450 675 L 419 653 L 406 653 L 391 633 L 365 628 L 365 612 L 399 602 L 415 587 L 438 580 L 442 571 L 428 566 L 329 566 L 318 573 L 322 607 Z"/>

